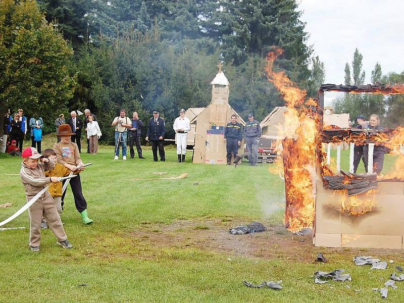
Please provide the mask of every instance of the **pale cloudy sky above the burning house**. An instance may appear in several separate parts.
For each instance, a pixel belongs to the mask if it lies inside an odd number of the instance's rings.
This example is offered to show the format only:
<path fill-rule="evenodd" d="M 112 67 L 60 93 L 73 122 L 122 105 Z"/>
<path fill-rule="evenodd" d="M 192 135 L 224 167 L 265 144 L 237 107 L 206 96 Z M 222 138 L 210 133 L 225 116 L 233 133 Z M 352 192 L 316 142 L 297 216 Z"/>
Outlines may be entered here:
<path fill-rule="evenodd" d="M 383 74 L 404 71 L 404 1 L 298 0 L 314 53 L 324 62 L 325 83 L 344 84 L 345 63 L 351 66 L 355 48 L 363 55 L 365 84 L 376 62 Z M 352 71 L 352 68 L 351 68 Z M 338 93 L 327 93 L 331 105 Z"/>

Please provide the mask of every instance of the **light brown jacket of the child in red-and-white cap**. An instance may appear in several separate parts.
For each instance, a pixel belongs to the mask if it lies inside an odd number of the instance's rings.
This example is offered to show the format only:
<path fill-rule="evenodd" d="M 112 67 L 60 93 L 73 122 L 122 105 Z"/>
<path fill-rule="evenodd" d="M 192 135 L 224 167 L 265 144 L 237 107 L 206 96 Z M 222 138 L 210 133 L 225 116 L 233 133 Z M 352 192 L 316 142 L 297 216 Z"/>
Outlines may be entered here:
<path fill-rule="evenodd" d="M 28 168 L 24 162 L 22 163 L 20 170 L 20 177 L 22 184 L 25 186 L 25 195 L 27 198 L 32 198 L 44 187 L 47 183 L 51 183 L 51 177 L 45 177 L 45 170 L 54 169 L 55 162 L 49 159 L 48 163 L 38 163 L 35 169 Z M 42 195 L 49 194 L 47 191 Z"/>

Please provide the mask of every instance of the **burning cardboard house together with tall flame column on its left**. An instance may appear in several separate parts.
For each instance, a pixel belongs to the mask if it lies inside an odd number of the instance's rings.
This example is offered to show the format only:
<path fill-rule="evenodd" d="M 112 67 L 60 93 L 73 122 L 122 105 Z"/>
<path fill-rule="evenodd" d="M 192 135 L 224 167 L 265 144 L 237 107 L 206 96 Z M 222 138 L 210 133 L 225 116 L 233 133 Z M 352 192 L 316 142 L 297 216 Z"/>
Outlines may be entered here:
<path fill-rule="evenodd" d="M 404 128 L 355 129 L 324 127 L 324 92 L 404 93 L 404 85 L 323 84 L 317 99 L 306 99 L 306 91 L 273 69 L 282 54 L 267 55 L 267 78 L 280 91 L 287 106 L 282 139 L 285 180 L 285 227 L 293 232 L 311 227 L 316 246 L 404 248 Z M 329 144 L 337 144 L 335 167 L 331 168 Z M 349 146 L 349 169 L 341 171 L 341 145 Z M 355 144 L 367 144 L 368 174 L 353 174 Z M 374 146 L 396 155 L 389 175 L 373 170 Z M 339 146 L 339 147 L 338 147 Z"/>

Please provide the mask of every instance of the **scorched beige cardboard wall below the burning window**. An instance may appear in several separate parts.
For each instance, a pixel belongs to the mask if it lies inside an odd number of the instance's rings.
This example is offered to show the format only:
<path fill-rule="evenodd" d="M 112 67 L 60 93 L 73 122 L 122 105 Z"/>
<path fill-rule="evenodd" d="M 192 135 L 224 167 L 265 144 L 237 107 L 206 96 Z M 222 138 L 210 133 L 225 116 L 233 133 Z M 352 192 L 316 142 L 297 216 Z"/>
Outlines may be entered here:
<path fill-rule="evenodd" d="M 324 189 L 321 179 L 317 182 L 315 246 L 404 248 L 403 182 L 378 182 L 374 207 L 363 215 L 343 212 L 342 201 L 347 200 L 346 192 Z"/>

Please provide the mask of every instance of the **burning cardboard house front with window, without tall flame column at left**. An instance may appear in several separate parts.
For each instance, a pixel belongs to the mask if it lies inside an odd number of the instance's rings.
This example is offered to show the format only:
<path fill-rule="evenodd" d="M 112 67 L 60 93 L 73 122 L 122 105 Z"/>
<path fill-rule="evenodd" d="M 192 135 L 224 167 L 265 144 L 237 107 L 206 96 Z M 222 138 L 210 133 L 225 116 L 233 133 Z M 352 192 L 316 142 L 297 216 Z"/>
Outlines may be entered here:
<path fill-rule="evenodd" d="M 373 150 L 376 145 L 399 150 L 399 129 L 380 131 L 323 127 L 325 91 L 349 93 L 397 93 L 394 87 L 322 85 L 318 95 L 319 136 L 317 142 L 317 194 L 314 244 L 330 247 L 403 248 L 404 179 L 399 175 L 377 176 L 373 172 Z M 401 91 L 401 93 L 404 91 Z M 329 149 L 337 144 L 335 172 L 329 168 Z M 340 170 L 342 144 L 349 144 L 349 172 Z M 354 147 L 368 144 L 368 174 L 356 175 Z"/>

